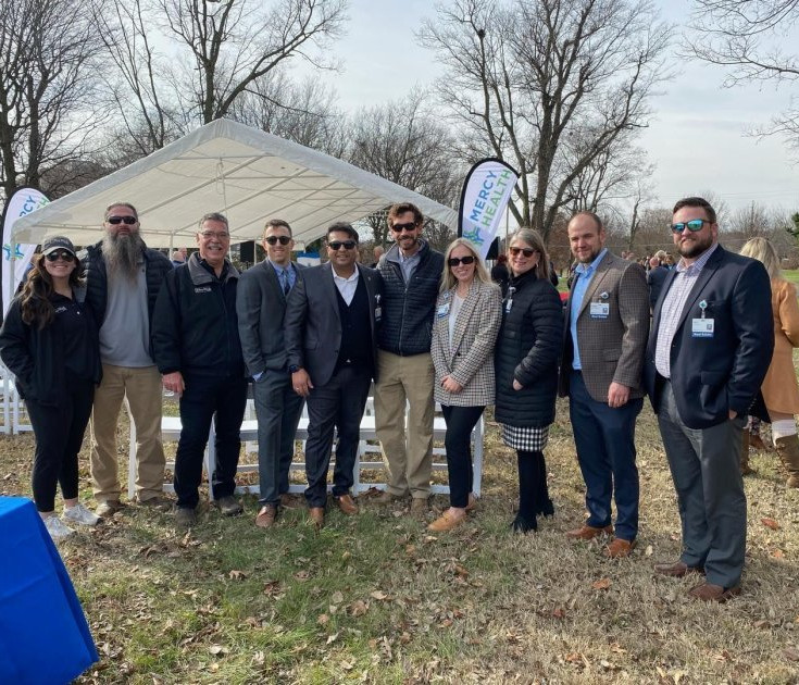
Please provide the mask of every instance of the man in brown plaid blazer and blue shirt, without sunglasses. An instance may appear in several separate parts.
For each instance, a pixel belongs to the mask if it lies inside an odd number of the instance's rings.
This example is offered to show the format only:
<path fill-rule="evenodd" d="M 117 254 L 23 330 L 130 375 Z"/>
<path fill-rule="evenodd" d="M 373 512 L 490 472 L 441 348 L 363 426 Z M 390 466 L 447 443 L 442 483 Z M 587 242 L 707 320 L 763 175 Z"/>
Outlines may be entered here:
<path fill-rule="evenodd" d="M 627 557 L 638 535 L 635 422 L 644 406 L 641 372 L 649 333 L 649 290 L 640 264 L 604 247 L 602 222 L 579 212 L 569 222 L 579 264 L 569 294 L 560 394 L 567 395 L 588 521 L 566 536 L 591 539 L 613 531 L 611 559 Z"/>

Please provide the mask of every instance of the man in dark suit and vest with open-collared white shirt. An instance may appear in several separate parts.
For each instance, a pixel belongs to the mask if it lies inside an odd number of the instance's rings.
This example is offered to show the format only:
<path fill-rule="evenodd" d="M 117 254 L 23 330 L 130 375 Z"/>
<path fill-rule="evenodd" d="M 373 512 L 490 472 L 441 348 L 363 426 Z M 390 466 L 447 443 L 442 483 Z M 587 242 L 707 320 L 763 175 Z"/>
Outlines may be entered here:
<path fill-rule="evenodd" d="M 361 418 L 376 375 L 383 295 L 379 274 L 357 263 L 358 232 L 352 226 L 336 223 L 327 229 L 327 263 L 305 270 L 286 312 L 291 383 L 308 400 L 305 500 L 317 527 L 325 521 L 334 431 L 333 497 L 342 513 L 358 513 L 350 488 Z"/>

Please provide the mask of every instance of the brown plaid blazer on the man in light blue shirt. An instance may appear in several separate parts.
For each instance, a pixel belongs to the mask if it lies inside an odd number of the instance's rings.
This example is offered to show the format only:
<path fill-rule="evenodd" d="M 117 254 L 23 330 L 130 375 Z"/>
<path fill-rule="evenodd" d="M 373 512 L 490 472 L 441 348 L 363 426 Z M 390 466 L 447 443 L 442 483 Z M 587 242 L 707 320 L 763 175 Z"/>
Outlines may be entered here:
<path fill-rule="evenodd" d="M 575 282 L 576 283 L 576 278 Z M 571 333 L 571 302 L 574 283 L 566 302 L 561 395 L 569 390 L 574 350 Z M 591 317 L 590 306 L 610 306 L 606 319 Z M 610 384 L 631 388 L 629 397 L 644 397 L 644 356 L 649 336 L 649 288 L 644 267 L 608 252 L 588 284 L 577 313 L 577 339 L 583 379 L 591 398 L 608 401 Z"/>

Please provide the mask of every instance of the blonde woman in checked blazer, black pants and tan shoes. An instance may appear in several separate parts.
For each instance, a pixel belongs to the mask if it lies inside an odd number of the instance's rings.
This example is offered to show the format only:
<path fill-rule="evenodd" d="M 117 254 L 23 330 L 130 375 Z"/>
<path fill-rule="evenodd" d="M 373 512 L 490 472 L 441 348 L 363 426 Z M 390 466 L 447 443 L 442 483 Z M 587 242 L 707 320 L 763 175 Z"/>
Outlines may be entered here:
<path fill-rule="evenodd" d="M 430 347 L 435 398 L 447 422 L 450 508 L 430 523 L 430 531 L 450 531 L 474 508 L 470 436 L 486 404 L 494 403 L 494 346 L 501 319 L 499 287 L 474 245 L 458 238 L 445 254 Z"/>

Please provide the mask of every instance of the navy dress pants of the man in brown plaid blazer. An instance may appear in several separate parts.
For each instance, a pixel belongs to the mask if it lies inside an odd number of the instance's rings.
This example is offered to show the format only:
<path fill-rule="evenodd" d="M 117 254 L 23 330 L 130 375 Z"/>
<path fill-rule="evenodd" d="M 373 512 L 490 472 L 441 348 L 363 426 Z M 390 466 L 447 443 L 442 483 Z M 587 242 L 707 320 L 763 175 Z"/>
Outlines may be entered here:
<path fill-rule="evenodd" d="M 644 399 L 609 407 L 589 394 L 583 374 L 573 371 L 569 386 L 569 415 L 577 460 L 586 484 L 588 525 L 611 524 L 611 498 L 616 502 L 615 536 L 638 535 L 638 468 L 635 464 L 635 422 Z"/>

